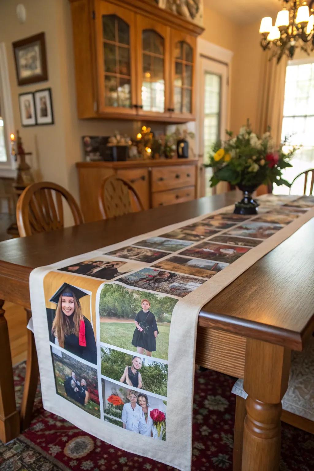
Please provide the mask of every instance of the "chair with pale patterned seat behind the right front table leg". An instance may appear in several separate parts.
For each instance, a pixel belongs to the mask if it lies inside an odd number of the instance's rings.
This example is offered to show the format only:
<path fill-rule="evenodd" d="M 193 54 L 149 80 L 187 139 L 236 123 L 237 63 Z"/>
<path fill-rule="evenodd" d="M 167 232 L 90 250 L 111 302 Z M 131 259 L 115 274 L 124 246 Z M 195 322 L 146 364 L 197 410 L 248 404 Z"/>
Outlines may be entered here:
<path fill-rule="evenodd" d="M 242 469 L 243 429 L 246 417 L 247 394 L 243 380 L 238 380 L 232 389 L 237 395 L 235 406 L 233 471 Z M 302 352 L 291 353 L 291 368 L 288 389 L 282 398 L 281 421 L 314 434 L 314 338 Z"/>

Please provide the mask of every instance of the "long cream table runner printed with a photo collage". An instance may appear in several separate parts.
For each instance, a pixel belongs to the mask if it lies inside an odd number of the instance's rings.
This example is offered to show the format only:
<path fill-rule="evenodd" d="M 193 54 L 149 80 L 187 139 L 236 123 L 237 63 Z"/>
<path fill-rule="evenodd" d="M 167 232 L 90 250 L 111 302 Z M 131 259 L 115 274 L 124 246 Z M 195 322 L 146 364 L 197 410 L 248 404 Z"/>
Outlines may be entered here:
<path fill-rule="evenodd" d="M 36 268 L 45 409 L 124 450 L 191 467 L 201 307 L 314 216 L 314 197 L 260 198 Z"/>

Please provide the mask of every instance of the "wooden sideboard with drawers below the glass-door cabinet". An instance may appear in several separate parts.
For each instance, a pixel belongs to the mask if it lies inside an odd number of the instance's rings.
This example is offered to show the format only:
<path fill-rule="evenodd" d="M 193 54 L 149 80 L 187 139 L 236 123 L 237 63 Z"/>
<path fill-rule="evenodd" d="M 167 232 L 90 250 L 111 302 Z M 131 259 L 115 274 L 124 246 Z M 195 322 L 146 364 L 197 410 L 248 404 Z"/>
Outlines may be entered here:
<path fill-rule="evenodd" d="M 127 162 L 77 162 L 80 202 L 85 222 L 102 219 L 98 191 L 102 180 L 116 175 L 137 190 L 145 209 L 183 203 L 197 197 L 197 159 Z"/>

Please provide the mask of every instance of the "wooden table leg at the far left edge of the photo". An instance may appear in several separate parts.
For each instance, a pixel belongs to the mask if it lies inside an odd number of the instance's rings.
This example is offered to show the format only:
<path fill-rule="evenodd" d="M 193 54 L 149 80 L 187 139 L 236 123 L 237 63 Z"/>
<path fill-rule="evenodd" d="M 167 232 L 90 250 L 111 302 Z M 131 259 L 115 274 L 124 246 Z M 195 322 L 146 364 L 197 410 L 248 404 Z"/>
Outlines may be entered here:
<path fill-rule="evenodd" d="M 12 359 L 7 319 L 0 300 L 0 439 L 7 443 L 20 433 L 20 415 L 16 410 Z"/>

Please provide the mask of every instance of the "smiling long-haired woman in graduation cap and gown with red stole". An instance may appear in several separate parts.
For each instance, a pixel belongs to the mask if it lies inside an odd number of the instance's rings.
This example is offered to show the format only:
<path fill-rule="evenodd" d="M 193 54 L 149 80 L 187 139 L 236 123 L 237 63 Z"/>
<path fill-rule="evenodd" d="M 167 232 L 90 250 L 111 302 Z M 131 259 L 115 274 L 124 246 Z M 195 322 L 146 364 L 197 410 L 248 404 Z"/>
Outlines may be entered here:
<path fill-rule="evenodd" d="M 52 323 L 52 341 L 69 352 L 97 364 L 95 335 L 89 320 L 83 316 L 80 298 L 87 293 L 64 283 L 50 301 L 57 304 Z"/>

